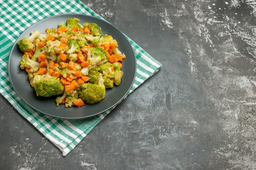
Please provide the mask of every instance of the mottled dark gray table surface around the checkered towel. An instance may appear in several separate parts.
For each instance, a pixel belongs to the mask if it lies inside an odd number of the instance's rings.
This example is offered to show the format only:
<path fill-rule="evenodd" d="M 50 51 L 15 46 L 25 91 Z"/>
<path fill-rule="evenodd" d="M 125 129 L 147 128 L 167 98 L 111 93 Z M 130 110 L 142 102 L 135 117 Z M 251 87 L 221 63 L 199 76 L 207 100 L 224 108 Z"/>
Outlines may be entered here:
<path fill-rule="evenodd" d="M 255 170 L 254 0 L 82 0 L 163 64 L 67 157 L 0 97 L 1 170 Z"/>

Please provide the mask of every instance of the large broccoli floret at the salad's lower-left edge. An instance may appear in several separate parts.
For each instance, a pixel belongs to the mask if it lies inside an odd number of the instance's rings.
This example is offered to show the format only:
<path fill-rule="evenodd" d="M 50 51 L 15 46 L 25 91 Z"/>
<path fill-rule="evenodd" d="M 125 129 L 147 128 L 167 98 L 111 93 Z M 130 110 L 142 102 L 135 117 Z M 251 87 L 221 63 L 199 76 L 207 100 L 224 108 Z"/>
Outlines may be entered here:
<path fill-rule="evenodd" d="M 64 92 L 64 86 L 60 78 L 51 75 L 36 75 L 33 80 L 36 95 L 51 97 L 61 95 Z"/>

